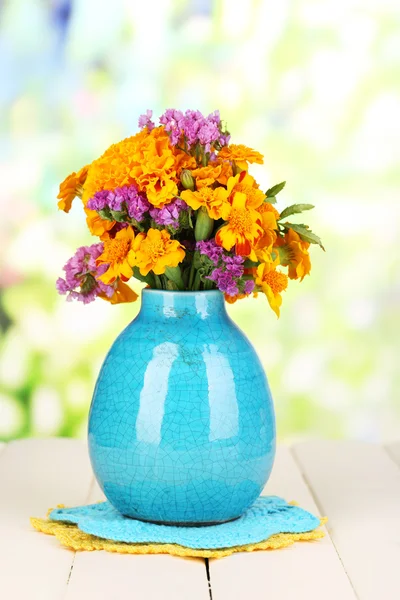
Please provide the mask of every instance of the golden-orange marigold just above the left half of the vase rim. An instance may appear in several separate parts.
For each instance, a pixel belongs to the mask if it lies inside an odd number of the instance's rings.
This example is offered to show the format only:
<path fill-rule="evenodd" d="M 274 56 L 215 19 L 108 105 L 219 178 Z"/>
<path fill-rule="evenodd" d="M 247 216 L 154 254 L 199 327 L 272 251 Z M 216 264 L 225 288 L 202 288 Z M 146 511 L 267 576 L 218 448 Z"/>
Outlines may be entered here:
<path fill-rule="evenodd" d="M 147 235 L 139 233 L 133 244 L 135 265 L 141 275 L 150 271 L 156 275 L 165 273 L 167 267 L 176 267 L 185 258 L 185 251 L 178 240 L 171 240 L 165 229 L 149 229 Z"/>

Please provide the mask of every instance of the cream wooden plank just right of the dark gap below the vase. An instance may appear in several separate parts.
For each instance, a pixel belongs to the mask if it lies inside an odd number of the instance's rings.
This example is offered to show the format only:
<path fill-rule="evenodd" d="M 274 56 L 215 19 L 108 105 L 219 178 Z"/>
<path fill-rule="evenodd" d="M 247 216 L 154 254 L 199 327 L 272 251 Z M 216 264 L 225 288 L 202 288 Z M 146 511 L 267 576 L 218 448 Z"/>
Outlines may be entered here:
<path fill-rule="evenodd" d="M 273 473 L 263 494 L 296 500 L 303 508 L 320 514 L 288 448 L 278 449 Z M 281 550 L 210 560 L 210 578 L 213 600 L 355 599 L 328 535 L 318 542 L 299 543 Z"/>

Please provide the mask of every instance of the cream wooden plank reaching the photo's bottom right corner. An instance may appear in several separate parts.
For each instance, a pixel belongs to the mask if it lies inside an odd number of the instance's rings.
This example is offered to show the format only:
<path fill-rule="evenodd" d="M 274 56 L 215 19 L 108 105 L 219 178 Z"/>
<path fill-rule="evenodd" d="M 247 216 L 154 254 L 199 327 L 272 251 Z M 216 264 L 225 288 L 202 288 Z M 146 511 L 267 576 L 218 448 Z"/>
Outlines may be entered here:
<path fill-rule="evenodd" d="M 400 470 L 362 442 L 306 442 L 294 452 L 361 600 L 400 597 Z"/>

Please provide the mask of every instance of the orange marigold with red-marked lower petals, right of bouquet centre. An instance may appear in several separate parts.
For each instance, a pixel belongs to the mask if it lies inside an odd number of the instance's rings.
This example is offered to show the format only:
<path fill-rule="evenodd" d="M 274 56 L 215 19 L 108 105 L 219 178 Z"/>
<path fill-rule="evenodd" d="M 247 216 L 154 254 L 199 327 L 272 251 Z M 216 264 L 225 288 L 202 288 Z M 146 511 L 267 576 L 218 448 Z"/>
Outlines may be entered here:
<path fill-rule="evenodd" d="M 225 250 L 231 250 L 235 246 L 236 254 L 256 260 L 253 248 L 263 234 L 261 215 L 247 204 L 246 194 L 233 194 L 229 214 L 225 220 L 226 225 L 221 227 L 215 236 L 217 244 Z"/>

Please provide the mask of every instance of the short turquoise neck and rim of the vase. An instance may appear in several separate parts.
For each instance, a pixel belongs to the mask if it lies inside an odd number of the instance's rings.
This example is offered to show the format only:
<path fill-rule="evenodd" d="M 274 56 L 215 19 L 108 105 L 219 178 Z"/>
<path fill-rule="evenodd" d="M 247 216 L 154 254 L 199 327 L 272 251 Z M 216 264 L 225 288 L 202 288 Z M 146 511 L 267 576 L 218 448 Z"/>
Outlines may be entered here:
<path fill-rule="evenodd" d="M 210 319 L 226 315 L 224 296 L 218 290 L 169 292 L 142 290 L 140 315 L 151 319 Z"/>

